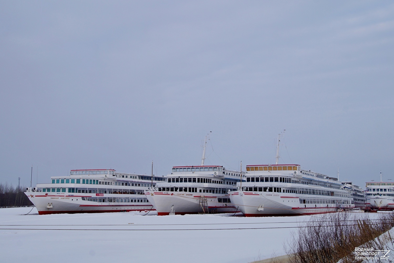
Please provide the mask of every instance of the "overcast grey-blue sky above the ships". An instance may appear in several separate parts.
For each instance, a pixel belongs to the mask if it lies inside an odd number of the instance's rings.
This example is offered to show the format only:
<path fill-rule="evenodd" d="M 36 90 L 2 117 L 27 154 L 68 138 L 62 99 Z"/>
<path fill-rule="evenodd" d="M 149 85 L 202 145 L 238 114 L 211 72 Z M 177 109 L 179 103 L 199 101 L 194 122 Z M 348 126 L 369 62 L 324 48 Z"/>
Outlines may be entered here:
<path fill-rule="evenodd" d="M 0 182 L 275 162 L 393 178 L 391 1 L 1 1 Z"/>

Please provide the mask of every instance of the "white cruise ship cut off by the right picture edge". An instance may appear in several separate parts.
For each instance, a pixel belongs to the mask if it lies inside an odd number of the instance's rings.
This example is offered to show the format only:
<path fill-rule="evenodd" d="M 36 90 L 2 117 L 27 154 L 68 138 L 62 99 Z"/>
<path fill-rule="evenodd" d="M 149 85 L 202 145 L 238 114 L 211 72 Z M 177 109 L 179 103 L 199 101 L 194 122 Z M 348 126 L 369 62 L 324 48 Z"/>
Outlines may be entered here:
<path fill-rule="evenodd" d="M 394 182 L 366 182 L 366 206 L 369 209 L 394 210 Z"/>

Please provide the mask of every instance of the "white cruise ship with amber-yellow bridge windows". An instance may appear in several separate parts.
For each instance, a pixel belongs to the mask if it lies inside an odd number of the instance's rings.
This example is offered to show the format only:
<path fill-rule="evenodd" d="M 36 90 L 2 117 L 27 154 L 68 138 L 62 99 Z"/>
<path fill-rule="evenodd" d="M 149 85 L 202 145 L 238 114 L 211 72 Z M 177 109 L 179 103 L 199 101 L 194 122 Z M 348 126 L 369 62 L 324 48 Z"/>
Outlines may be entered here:
<path fill-rule="evenodd" d="M 246 182 L 230 192 L 245 216 L 295 216 L 354 207 L 351 192 L 327 175 L 297 164 L 247 165 Z"/>

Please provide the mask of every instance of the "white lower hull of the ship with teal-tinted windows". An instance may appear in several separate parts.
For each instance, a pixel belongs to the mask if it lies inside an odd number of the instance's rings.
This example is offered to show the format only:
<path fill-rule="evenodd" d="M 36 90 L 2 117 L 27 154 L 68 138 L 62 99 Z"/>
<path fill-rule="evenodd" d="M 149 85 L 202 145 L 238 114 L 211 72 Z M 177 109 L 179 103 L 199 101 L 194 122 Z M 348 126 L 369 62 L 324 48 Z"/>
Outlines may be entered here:
<path fill-rule="evenodd" d="M 82 200 L 82 197 L 96 197 L 92 194 L 76 193 L 68 195 L 67 193 L 48 194 L 43 192 L 25 192 L 30 201 L 35 205 L 39 214 L 61 214 L 61 213 L 99 213 L 99 212 L 129 212 L 154 210 L 154 207 L 148 202 L 132 203 L 132 202 L 95 202 Z M 144 197 L 144 195 L 122 195 L 114 196 L 111 194 L 100 194 L 102 198 L 124 198 L 124 197 Z"/>

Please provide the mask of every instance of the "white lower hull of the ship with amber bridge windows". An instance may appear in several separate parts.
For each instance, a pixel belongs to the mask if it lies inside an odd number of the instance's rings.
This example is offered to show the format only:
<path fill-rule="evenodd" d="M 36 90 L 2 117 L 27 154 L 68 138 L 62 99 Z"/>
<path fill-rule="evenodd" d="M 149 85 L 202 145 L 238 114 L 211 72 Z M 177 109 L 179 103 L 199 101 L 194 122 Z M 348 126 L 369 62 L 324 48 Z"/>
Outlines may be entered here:
<path fill-rule="evenodd" d="M 297 216 L 337 212 L 336 204 L 301 204 L 300 197 L 291 193 L 230 192 L 231 202 L 245 216 Z"/>

